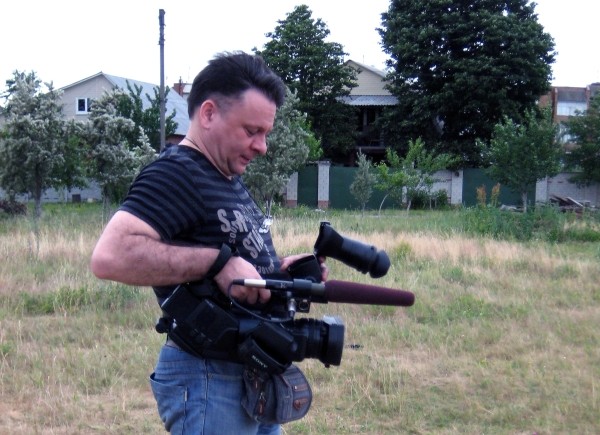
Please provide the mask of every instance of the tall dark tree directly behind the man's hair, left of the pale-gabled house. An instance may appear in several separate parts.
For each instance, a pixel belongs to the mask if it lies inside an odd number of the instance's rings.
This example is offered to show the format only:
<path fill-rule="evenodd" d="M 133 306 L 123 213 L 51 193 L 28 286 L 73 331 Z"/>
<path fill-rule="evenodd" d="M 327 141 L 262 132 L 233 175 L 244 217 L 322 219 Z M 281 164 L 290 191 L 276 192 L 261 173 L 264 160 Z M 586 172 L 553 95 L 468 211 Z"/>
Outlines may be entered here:
<path fill-rule="evenodd" d="M 314 20 L 306 5 L 297 6 L 266 36 L 271 38 L 259 51 L 300 100 L 298 110 L 321 141 L 324 153 L 343 160 L 354 147 L 355 110 L 342 103 L 356 86 L 356 72 L 344 64 L 342 45 L 325 42 L 329 29 L 321 19 Z"/>

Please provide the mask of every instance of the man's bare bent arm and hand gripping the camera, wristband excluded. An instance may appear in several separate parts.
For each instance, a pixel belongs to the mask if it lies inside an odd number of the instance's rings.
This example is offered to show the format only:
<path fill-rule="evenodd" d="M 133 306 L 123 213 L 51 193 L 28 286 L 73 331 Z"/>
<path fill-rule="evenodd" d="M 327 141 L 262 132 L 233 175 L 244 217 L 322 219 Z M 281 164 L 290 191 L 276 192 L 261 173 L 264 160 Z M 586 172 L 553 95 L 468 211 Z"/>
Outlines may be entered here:
<path fill-rule="evenodd" d="M 101 279 L 141 286 L 174 285 L 202 279 L 215 262 L 219 250 L 177 246 L 161 241 L 150 225 L 125 211 L 118 211 L 106 225 L 92 253 L 91 269 Z M 246 260 L 232 257 L 215 276 L 222 291 L 238 278 L 260 278 Z M 232 296 L 240 301 L 266 302 L 264 289 L 234 286 Z"/>

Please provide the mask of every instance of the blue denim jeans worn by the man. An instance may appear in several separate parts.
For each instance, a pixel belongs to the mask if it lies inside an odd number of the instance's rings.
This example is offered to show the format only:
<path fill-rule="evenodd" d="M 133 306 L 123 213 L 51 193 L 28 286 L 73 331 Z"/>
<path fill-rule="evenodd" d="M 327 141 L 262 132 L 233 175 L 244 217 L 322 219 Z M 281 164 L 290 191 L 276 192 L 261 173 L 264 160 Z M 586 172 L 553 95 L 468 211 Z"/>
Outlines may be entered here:
<path fill-rule="evenodd" d="M 150 385 L 165 429 L 181 435 L 279 435 L 279 425 L 260 424 L 242 408 L 242 370 L 240 364 L 163 346 Z"/>

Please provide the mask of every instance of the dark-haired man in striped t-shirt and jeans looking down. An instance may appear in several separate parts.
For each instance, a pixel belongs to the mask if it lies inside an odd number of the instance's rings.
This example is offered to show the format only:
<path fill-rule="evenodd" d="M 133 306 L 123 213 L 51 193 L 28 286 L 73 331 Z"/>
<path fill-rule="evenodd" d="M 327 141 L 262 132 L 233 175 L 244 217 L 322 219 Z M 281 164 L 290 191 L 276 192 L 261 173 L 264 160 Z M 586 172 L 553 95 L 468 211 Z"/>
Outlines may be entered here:
<path fill-rule="evenodd" d="M 209 278 L 227 292 L 233 279 L 277 273 L 302 257 L 277 257 L 268 222 L 239 180 L 266 153 L 284 95 L 285 85 L 260 57 L 215 57 L 194 79 L 186 137 L 136 178 L 98 240 L 93 273 L 153 286 L 162 303 L 180 283 Z M 230 295 L 247 304 L 270 298 L 266 289 L 244 286 L 232 286 Z M 150 377 L 165 428 L 278 434 L 278 425 L 258 424 L 242 409 L 242 370 L 237 362 L 193 356 L 168 339 Z"/>

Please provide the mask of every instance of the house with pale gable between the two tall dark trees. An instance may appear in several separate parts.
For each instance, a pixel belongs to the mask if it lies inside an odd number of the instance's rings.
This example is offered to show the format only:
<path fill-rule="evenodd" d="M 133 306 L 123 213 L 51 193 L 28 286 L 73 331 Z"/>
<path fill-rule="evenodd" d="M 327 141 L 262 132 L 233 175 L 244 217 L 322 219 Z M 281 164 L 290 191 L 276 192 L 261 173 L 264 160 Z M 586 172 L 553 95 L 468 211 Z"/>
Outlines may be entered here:
<path fill-rule="evenodd" d="M 349 96 L 342 98 L 344 103 L 358 109 L 356 149 L 380 159 L 385 154 L 385 143 L 376 121 L 383 109 L 396 105 L 398 99 L 385 88 L 385 71 L 353 60 L 348 60 L 346 65 L 357 71 L 358 86 L 350 90 Z"/>

